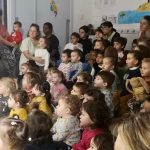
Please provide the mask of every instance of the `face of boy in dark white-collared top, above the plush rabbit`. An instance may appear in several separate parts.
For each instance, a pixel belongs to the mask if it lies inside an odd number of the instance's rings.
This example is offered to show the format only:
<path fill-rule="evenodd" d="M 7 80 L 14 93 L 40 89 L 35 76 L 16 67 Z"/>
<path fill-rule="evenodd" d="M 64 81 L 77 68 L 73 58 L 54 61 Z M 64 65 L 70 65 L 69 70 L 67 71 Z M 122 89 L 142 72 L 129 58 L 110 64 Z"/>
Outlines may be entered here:
<path fill-rule="evenodd" d="M 126 59 L 126 64 L 128 68 L 136 67 L 138 64 L 138 60 L 136 60 L 133 56 L 133 54 L 128 54 Z"/>

